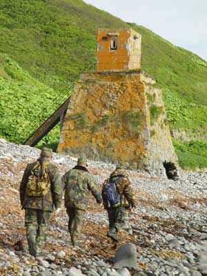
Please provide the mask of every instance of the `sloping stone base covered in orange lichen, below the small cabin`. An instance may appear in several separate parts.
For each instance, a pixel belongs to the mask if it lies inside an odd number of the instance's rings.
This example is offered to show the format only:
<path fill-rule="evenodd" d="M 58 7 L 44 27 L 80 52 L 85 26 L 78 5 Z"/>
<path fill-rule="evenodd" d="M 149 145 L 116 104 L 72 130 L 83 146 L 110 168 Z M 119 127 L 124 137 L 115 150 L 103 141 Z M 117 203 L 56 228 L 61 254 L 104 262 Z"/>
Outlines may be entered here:
<path fill-rule="evenodd" d="M 62 122 L 58 152 L 128 168 L 176 161 L 161 90 L 145 72 L 81 74 Z"/>

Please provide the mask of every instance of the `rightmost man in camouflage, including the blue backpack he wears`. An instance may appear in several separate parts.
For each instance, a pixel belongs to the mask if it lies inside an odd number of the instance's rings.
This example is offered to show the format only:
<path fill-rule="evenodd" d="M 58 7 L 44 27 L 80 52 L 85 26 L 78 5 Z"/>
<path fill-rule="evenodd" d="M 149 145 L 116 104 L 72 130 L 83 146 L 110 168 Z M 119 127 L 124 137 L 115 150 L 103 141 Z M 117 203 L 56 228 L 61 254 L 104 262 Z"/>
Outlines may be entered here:
<path fill-rule="evenodd" d="M 126 224 L 126 208 L 136 206 L 130 180 L 123 166 L 117 166 L 110 178 L 106 179 L 102 188 L 103 206 L 108 211 L 108 237 L 113 242 L 119 242 L 117 232 Z"/>

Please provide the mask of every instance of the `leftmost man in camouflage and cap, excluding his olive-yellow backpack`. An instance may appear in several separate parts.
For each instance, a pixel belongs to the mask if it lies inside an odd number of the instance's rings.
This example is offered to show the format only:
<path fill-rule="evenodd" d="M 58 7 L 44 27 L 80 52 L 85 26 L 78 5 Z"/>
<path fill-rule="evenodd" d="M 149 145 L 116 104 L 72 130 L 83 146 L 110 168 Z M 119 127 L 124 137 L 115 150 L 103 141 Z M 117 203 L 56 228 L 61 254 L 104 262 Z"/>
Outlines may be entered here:
<path fill-rule="evenodd" d="M 55 165 L 50 163 L 51 159 L 52 150 L 50 148 L 43 148 L 39 159 L 32 164 L 28 164 L 26 167 L 19 189 L 21 206 L 25 209 L 26 237 L 29 252 L 35 257 L 42 255 L 46 231 L 50 222 L 50 213 L 54 207 L 56 210 L 59 210 L 61 207 L 63 193 L 61 175 Z M 40 197 L 28 196 L 28 179 L 35 168 L 37 168 L 35 173 L 39 177 L 43 173 L 47 173 L 50 181 L 46 195 Z"/>

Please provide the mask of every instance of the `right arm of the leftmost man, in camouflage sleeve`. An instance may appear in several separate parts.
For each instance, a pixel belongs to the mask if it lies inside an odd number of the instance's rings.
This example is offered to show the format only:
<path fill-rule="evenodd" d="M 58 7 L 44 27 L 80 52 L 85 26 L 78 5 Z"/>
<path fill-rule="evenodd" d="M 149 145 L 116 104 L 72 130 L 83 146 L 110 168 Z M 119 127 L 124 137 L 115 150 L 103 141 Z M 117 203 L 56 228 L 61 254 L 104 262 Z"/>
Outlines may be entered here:
<path fill-rule="evenodd" d="M 59 173 L 59 170 L 54 165 L 50 165 L 48 172 L 52 186 L 53 204 L 55 208 L 60 208 L 64 188 L 61 181 L 61 175 Z"/>

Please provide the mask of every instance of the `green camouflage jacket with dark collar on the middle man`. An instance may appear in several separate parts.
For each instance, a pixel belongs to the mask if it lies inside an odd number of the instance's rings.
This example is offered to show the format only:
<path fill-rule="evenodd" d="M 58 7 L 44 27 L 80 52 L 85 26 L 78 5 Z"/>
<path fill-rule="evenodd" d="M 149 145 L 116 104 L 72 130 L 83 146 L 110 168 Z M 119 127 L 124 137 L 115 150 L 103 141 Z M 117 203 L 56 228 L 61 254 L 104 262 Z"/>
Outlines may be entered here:
<path fill-rule="evenodd" d="M 95 183 L 95 179 L 85 167 L 75 166 L 72 170 L 68 170 L 63 175 L 62 181 L 66 189 L 66 208 L 72 204 L 78 209 L 86 210 L 90 199 L 90 192 L 97 200 L 97 203 L 102 202 L 102 197 Z"/>

